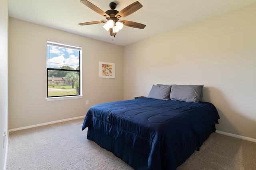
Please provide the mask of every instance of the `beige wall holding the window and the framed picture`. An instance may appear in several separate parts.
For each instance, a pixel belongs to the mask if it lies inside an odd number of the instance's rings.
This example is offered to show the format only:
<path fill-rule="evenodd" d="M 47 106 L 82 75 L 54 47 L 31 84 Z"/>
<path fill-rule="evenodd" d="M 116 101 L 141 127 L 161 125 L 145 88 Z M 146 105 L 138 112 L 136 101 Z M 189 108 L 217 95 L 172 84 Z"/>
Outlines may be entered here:
<path fill-rule="evenodd" d="M 82 46 L 82 99 L 46 101 L 46 40 Z M 8 44 L 9 129 L 83 116 L 90 106 L 123 100 L 122 46 L 14 18 Z M 99 78 L 99 61 L 115 63 L 116 78 Z"/>

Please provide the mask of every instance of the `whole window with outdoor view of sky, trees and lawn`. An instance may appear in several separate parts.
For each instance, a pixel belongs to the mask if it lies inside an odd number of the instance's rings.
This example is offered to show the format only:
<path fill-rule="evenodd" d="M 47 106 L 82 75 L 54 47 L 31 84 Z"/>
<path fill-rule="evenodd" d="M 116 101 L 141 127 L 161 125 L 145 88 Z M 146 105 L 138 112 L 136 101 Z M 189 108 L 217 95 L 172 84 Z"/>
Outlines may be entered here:
<path fill-rule="evenodd" d="M 82 47 L 47 41 L 47 100 L 82 96 Z"/>

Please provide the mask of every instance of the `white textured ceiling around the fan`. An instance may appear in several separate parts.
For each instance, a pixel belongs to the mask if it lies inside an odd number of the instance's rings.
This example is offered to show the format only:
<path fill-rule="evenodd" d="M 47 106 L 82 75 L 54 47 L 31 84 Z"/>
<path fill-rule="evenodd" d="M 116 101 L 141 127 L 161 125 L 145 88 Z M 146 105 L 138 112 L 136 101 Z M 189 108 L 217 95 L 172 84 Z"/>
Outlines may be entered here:
<path fill-rule="evenodd" d="M 88 0 L 103 11 L 109 3 L 117 4 L 120 11 L 136 0 Z M 256 0 L 138 0 L 143 5 L 122 20 L 146 25 L 144 29 L 124 26 L 114 41 L 102 26 L 104 23 L 80 26 L 78 23 L 105 20 L 80 0 L 8 0 L 12 18 L 38 23 L 48 27 L 84 35 L 117 45 L 128 45 L 154 35 L 188 25 L 206 18 L 255 3 Z"/>

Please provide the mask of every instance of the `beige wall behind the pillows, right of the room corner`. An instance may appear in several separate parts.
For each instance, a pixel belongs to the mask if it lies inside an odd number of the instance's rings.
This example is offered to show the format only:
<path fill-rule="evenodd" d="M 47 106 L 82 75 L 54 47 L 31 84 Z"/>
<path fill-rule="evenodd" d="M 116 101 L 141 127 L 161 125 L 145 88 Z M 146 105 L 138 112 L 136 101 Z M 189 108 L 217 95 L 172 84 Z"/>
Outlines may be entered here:
<path fill-rule="evenodd" d="M 256 3 L 124 47 L 124 100 L 204 84 L 217 130 L 256 139 Z"/>

